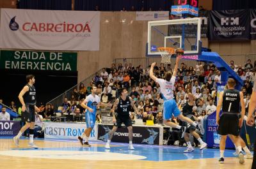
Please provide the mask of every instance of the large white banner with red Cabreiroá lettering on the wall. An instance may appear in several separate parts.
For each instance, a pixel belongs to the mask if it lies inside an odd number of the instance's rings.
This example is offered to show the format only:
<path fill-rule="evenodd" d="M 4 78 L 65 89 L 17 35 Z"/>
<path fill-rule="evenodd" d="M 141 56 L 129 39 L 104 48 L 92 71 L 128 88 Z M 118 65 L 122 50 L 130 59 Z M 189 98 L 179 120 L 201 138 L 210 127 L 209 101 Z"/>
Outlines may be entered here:
<path fill-rule="evenodd" d="M 99 31 L 99 11 L 1 9 L 1 48 L 99 50 Z"/>

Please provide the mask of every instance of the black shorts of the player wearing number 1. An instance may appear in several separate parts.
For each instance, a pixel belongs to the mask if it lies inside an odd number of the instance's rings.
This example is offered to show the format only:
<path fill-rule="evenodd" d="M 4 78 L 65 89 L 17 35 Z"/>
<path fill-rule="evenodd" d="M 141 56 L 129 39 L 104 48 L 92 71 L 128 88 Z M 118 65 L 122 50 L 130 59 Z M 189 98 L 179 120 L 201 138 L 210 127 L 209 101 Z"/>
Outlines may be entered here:
<path fill-rule="evenodd" d="M 223 113 L 218 126 L 219 135 L 234 135 L 239 136 L 239 117 L 238 114 L 225 114 Z"/>

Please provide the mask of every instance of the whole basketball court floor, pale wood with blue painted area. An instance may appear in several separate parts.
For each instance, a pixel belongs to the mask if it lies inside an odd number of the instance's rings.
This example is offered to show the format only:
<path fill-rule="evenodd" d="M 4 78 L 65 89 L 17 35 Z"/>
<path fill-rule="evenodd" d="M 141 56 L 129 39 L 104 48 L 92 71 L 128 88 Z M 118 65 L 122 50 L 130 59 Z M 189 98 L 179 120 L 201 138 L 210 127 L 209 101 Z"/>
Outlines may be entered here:
<path fill-rule="evenodd" d="M 134 145 L 112 143 L 106 150 L 103 142 L 90 142 L 92 147 L 81 147 L 76 140 L 35 140 L 39 149 L 27 146 L 28 139 L 21 139 L 16 147 L 12 138 L 0 139 L 0 168 L 232 168 L 249 169 L 252 159 L 240 165 L 234 158 L 234 150 L 225 151 L 225 164 L 219 164 L 219 149 L 204 149 L 184 154 L 186 147 Z"/>

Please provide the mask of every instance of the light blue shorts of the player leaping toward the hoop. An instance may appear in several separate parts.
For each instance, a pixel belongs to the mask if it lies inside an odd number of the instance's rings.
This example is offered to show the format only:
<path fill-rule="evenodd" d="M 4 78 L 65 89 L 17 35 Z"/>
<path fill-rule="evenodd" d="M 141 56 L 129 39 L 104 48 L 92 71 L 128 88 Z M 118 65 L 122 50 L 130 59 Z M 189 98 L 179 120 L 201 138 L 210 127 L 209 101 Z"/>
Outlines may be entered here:
<path fill-rule="evenodd" d="M 174 99 L 169 99 L 164 101 L 163 107 L 163 118 L 164 120 L 168 120 L 174 117 L 178 117 L 180 115 L 180 110 L 177 107 L 176 101 Z"/>

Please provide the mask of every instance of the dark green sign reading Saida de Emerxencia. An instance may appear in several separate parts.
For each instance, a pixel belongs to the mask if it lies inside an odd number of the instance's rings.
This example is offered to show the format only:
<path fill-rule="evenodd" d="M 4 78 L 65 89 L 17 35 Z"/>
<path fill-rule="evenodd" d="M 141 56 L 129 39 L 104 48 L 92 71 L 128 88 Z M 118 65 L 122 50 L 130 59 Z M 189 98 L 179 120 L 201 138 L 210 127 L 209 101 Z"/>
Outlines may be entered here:
<path fill-rule="evenodd" d="M 0 69 L 77 71 L 77 53 L 1 50 Z"/>

